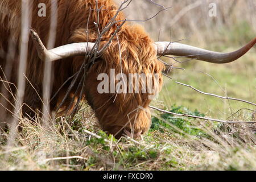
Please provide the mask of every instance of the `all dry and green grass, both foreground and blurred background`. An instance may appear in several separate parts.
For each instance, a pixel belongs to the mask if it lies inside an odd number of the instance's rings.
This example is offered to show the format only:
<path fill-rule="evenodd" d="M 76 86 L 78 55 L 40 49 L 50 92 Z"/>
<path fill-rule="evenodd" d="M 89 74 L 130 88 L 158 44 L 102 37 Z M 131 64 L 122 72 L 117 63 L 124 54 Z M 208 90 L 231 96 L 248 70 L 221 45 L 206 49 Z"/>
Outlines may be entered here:
<path fill-rule="evenodd" d="M 138 10 L 148 9 L 146 1 L 136 2 L 141 6 L 134 7 L 136 3 L 131 5 L 138 14 L 129 11 L 130 19 L 148 18 L 152 12 Z M 174 17 L 191 2 L 183 1 L 177 4 L 175 1 L 168 1 L 168 5 L 170 3 L 174 6 L 168 16 Z M 204 9 L 193 9 L 176 23 L 172 39 L 179 40 L 185 37 L 189 38 L 185 43 L 194 46 L 215 51 L 233 51 L 255 36 L 255 27 L 252 26 L 254 20 L 250 19 L 255 11 L 250 11 L 250 2 L 249 0 L 246 3 L 238 2 L 230 16 L 225 16 L 225 22 L 220 21 L 218 16 L 217 19 L 209 20 L 210 22 L 207 23 L 207 20 L 202 18 Z M 231 7 L 231 1 L 219 3 L 224 7 L 221 13 L 226 14 Z M 157 8 L 153 6 L 153 10 Z M 139 14 L 141 12 L 142 15 Z M 202 21 L 198 21 L 198 16 Z M 169 39 L 168 21 L 168 18 L 160 14 L 152 22 L 143 22 L 143 24 L 152 37 L 157 39 L 158 31 L 156 32 L 152 27 L 160 23 L 158 26 L 163 27 L 161 39 Z M 176 113 L 232 121 L 255 121 L 253 115 L 255 106 L 205 96 L 191 88 L 175 84 L 175 81 L 179 81 L 207 93 L 241 98 L 255 103 L 255 57 L 256 52 L 253 48 L 240 60 L 230 64 L 216 65 L 200 61 L 175 64 L 175 67 L 185 68 L 185 71 L 174 69 L 170 74 L 173 80 L 164 78 L 163 90 L 152 105 Z M 0 136 L 0 169 L 85 171 L 256 169 L 256 129 L 253 124 L 208 122 L 152 111 L 152 126 L 146 135 L 138 140 L 131 138 L 117 140 L 101 131 L 96 120 L 89 108 L 77 113 L 71 123 L 65 122 L 64 118 L 57 118 L 54 131 L 47 131 L 39 124 L 31 125 L 28 119 L 20 120 L 23 130 L 18 134 L 14 147 L 6 148 L 7 134 Z M 90 132 L 94 135 L 88 134 Z"/>

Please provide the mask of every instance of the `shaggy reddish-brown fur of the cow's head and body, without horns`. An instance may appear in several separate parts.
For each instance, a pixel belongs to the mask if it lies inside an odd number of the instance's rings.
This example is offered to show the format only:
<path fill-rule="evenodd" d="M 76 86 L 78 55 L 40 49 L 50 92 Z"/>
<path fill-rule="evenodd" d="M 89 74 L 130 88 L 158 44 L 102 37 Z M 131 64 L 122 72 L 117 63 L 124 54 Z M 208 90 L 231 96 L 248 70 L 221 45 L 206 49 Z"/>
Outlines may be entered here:
<path fill-rule="evenodd" d="M 38 16 L 38 4 L 46 3 L 47 16 Z M 44 44 L 47 44 L 51 9 L 50 1 L 48 0 L 31 0 L 32 9 L 32 23 L 31 27 L 38 32 Z M 89 20 L 89 38 L 86 36 L 86 24 L 88 21 L 89 8 L 96 9 L 95 0 L 58 0 L 58 20 L 57 20 L 57 37 L 55 47 L 64 44 L 75 42 L 95 42 L 97 39 L 97 30 L 93 22 L 97 22 L 96 11 L 93 11 Z M 104 9 L 100 11 L 100 29 L 104 28 L 109 20 L 117 12 L 117 6 L 112 0 L 98 0 L 98 7 L 104 5 Z M 17 84 L 17 69 L 18 69 L 18 52 L 19 52 L 19 39 L 20 39 L 20 9 L 21 0 L 1 0 L 0 2 L 0 64 L 1 79 Z M 117 16 L 117 20 L 125 19 L 122 13 Z M 121 23 L 121 22 L 120 22 Z M 120 24 L 118 23 L 118 24 Z M 106 43 L 116 26 L 113 26 L 102 38 L 102 45 Z M 125 23 L 121 30 L 118 32 L 118 38 L 121 46 L 122 55 L 122 72 L 128 73 L 160 73 L 164 66 L 156 59 L 156 51 L 152 47 L 152 40 L 146 34 L 142 27 Z M 8 56 L 4 52 L 8 52 L 10 43 L 17 43 L 15 46 L 16 53 L 13 56 Z M 36 50 L 30 39 L 28 46 L 28 60 L 26 76 L 30 83 L 34 86 L 36 91 L 42 96 L 42 83 L 44 73 L 44 63 L 39 59 Z M 60 86 L 74 73 L 76 73 L 82 63 L 84 57 L 69 58 L 66 60 L 55 61 L 53 64 L 53 88 L 52 95 L 57 92 Z M 123 126 L 129 131 L 133 130 L 135 133 L 142 130 L 142 133 L 150 127 L 150 111 L 148 105 L 148 94 L 117 94 L 114 101 L 115 94 L 100 94 L 97 92 L 97 81 L 99 73 L 110 73 L 110 68 L 115 69 L 115 73 L 121 73 L 119 59 L 119 47 L 117 39 L 115 38 L 110 44 L 106 52 L 102 55 L 99 61 L 93 65 L 88 75 L 86 75 L 85 85 L 85 98 L 92 106 L 96 113 L 98 121 L 105 131 L 115 134 L 120 137 L 123 131 L 119 132 Z M 3 74 L 4 69 L 11 68 L 11 74 Z M 32 114 L 34 110 L 42 108 L 42 102 L 39 99 L 35 89 L 32 88 L 30 83 L 27 82 L 24 94 L 24 103 L 29 107 L 23 107 L 23 113 Z M 3 82 L 1 84 L 1 105 L 9 110 L 13 110 L 13 106 L 6 101 L 6 98 L 13 103 L 13 99 L 7 94 L 8 85 Z M 59 102 L 63 99 L 67 92 L 68 82 L 63 89 L 57 94 L 51 102 L 51 110 L 56 109 Z M 162 86 L 162 76 L 157 80 L 159 90 Z M 156 83 L 154 85 L 157 85 Z M 16 92 L 15 86 L 11 86 L 11 91 Z M 74 86 L 76 88 L 76 86 Z M 71 93 L 75 94 L 74 92 Z M 113 96 L 114 95 L 114 96 Z M 78 97 L 78 96 L 75 96 Z M 71 100 L 64 103 L 64 107 L 68 107 Z M 144 110 L 138 109 L 138 106 L 144 107 Z M 9 111 L 1 107 L 1 125 L 4 127 L 6 115 Z M 7 121 L 6 121 L 7 122 Z M 127 124 L 128 123 L 128 124 Z"/>

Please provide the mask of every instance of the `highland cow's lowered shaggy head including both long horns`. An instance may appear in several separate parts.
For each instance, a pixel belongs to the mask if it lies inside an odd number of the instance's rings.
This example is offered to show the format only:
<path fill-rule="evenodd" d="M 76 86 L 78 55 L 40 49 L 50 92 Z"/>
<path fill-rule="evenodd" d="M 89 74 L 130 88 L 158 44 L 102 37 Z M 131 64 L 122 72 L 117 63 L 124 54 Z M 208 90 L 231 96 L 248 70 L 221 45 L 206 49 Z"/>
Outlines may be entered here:
<path fill-rule="evenodd" d="M 212 52 L 174 42 L 154 43 L 143 28 L 127 26 L 113 36 L 111 42 L 91 43 L 85 39 L 82 43 L 47 50 L 35 31 L 31 30 L 31 35 L 42 60 L 76 56 L 74 60 L 79 63 L 79 68 L 84 60 L 81 56 L 91 56 L 86 59 L 86 63 L 94 62 L 86 73 L 84 94 L 102 129 L 117 138 L 123 134 L 138 137 L 149 129 L 151 116 L 148 106 L 163 82 L 164 64 L 157 59 L 158 56 L 184 56 L 222 64 L 238 59 L 256 43 L 254 38 L 237 51 Z"/>

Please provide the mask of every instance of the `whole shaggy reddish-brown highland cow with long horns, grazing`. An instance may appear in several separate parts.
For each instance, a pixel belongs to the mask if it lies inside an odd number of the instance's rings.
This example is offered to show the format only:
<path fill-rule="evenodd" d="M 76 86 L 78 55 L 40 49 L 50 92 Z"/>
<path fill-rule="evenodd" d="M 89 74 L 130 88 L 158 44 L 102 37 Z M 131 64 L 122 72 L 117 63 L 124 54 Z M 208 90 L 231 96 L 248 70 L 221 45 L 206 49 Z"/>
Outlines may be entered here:
<path fill-rule="evenodd" d="M 33 117 L 36 110 L 42 110 L 44 64 L 49 61 L 52 64 L 50 110 L 57 110 L 60 115 L 73 113 L 82 98 L 94 110 L 102 129 L 117 138 L 123 134 L 137 137 L 151 125 L 148 96 L 160 91 L 161 72 L 165 69 L 157 56 L 187 56 L 210 63 L 229 63 L 241 57 L 256 42 L 254 39 L 232 53 L 212 52 L 179 43 L 155 43 L 143 27 L 125 21 L 113 0 L 57 0 L 57 12 L 54 12 L 57 14 L 56 48 L 47 50 L 44 45 L 49 39 L 51 11 L 47 11 L 46 16 L 38 16 L 40 3 L 51 9 L 48 0 L 29 1 L 32 29 L 24 73 L 27 78 L 22 107 L 24 117 Z M 9 123 L 14 110 L 21 11 L 22 0 L 0 2 L 2 129 Z M 159 77 L 153 79 L 154 93 L 99 93 L 97 88 L 101 81 L 98 75 L 110 75 L 111 69 L 116 74 L 125 75 L 158 74 Z M 140 81 L 140 89 L 142 85 L 143 81 Z"/>

